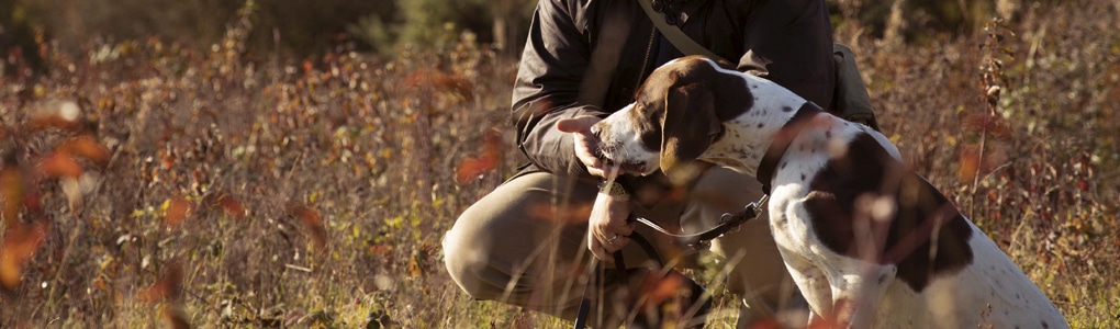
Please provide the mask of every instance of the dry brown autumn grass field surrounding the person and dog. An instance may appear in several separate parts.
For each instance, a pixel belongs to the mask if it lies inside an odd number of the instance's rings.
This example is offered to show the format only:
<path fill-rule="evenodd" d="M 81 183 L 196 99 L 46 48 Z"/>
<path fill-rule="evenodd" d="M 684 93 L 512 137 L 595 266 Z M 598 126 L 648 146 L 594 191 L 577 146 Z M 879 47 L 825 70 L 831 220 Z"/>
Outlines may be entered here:
<path fill-rule="evenodd" d="M 1060 7 L 930 46 L 838 30 L 908 162 L 1075 328 L 1120 326 L 1120 31 L 1083 19 L 1117 16 Z M 567 326 L 472 302 L 440 260 L 521 161 L 515 63 L 469 40 L 276 63 L 244 54 L 250 28 L 6 67 L 0 327 Z"/>

